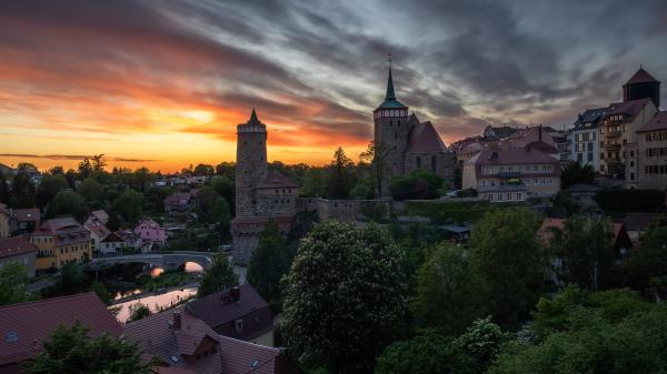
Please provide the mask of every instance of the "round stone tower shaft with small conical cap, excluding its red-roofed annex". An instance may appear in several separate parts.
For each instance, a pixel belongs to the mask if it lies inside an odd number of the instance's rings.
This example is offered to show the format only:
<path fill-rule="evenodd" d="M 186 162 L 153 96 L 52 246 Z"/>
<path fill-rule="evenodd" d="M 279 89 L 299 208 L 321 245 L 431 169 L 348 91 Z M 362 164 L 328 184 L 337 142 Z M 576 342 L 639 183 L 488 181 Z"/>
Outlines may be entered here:
<path fill-rule="evenodd" d="M 252 109 L 250 120 L 237 125 L 237 216 L 257 215 L 257 185 L 267 178 L 267 127 Z"/>

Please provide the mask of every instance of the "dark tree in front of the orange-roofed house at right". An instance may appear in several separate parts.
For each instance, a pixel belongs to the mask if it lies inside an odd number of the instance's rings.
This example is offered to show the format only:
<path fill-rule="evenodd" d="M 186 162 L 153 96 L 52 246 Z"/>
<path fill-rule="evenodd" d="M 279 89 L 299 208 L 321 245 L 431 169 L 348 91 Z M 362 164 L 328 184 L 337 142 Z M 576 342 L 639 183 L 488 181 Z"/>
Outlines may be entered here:
<path fill-rule="evenodd" d="M 611 249 L 611 221 L 607 218 L 573 215 L 563 230 L 554 229 L 555 254 L 563 260 L 559 277 L 591 291 L 611 281 L 615 254 Z"/>

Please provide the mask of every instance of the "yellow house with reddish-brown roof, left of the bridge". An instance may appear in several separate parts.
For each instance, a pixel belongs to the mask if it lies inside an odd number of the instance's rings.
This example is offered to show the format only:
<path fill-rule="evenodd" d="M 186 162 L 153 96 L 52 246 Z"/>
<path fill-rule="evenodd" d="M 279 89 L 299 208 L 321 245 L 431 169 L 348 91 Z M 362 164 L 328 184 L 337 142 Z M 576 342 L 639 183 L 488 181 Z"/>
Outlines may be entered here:
<path fill-rule="evenodd" d="M 30 242 L 38 249 L 37 270 L 60 269 L 92 257 L 90 232 L 71 218 L 44 221 Z"/>

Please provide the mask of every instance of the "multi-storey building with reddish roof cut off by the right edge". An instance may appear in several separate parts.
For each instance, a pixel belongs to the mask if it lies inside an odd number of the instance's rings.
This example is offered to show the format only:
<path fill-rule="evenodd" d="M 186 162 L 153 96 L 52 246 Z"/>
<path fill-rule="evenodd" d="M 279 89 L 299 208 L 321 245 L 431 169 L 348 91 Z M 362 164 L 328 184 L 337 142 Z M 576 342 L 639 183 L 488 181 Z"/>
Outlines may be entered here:
<path fill-rule="evenodd" d="M 667 112 L 637 131 L 637 188 L 667 189 Z"/>

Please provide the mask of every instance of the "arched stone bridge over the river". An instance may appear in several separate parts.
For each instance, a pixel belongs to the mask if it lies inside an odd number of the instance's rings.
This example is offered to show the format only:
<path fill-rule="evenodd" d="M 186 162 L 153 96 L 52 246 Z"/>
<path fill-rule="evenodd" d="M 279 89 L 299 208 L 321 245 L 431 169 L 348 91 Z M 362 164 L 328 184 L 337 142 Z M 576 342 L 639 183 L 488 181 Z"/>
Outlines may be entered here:
<path fill-rule="evenodd" d="M 109 267 L 115 264 L 127 264 L 132 262 L 145 263 L 165 270 L 177 270 L 186 262 L 199 264 L 203 270 L 209 270 L 213 265 L 213 255 L 211 252 L 165 252 L 165 253 L 139 253 L 126 254 L 110 257 L 92 259 L 84 265 L 86 270 L 94 271 Z"/>

